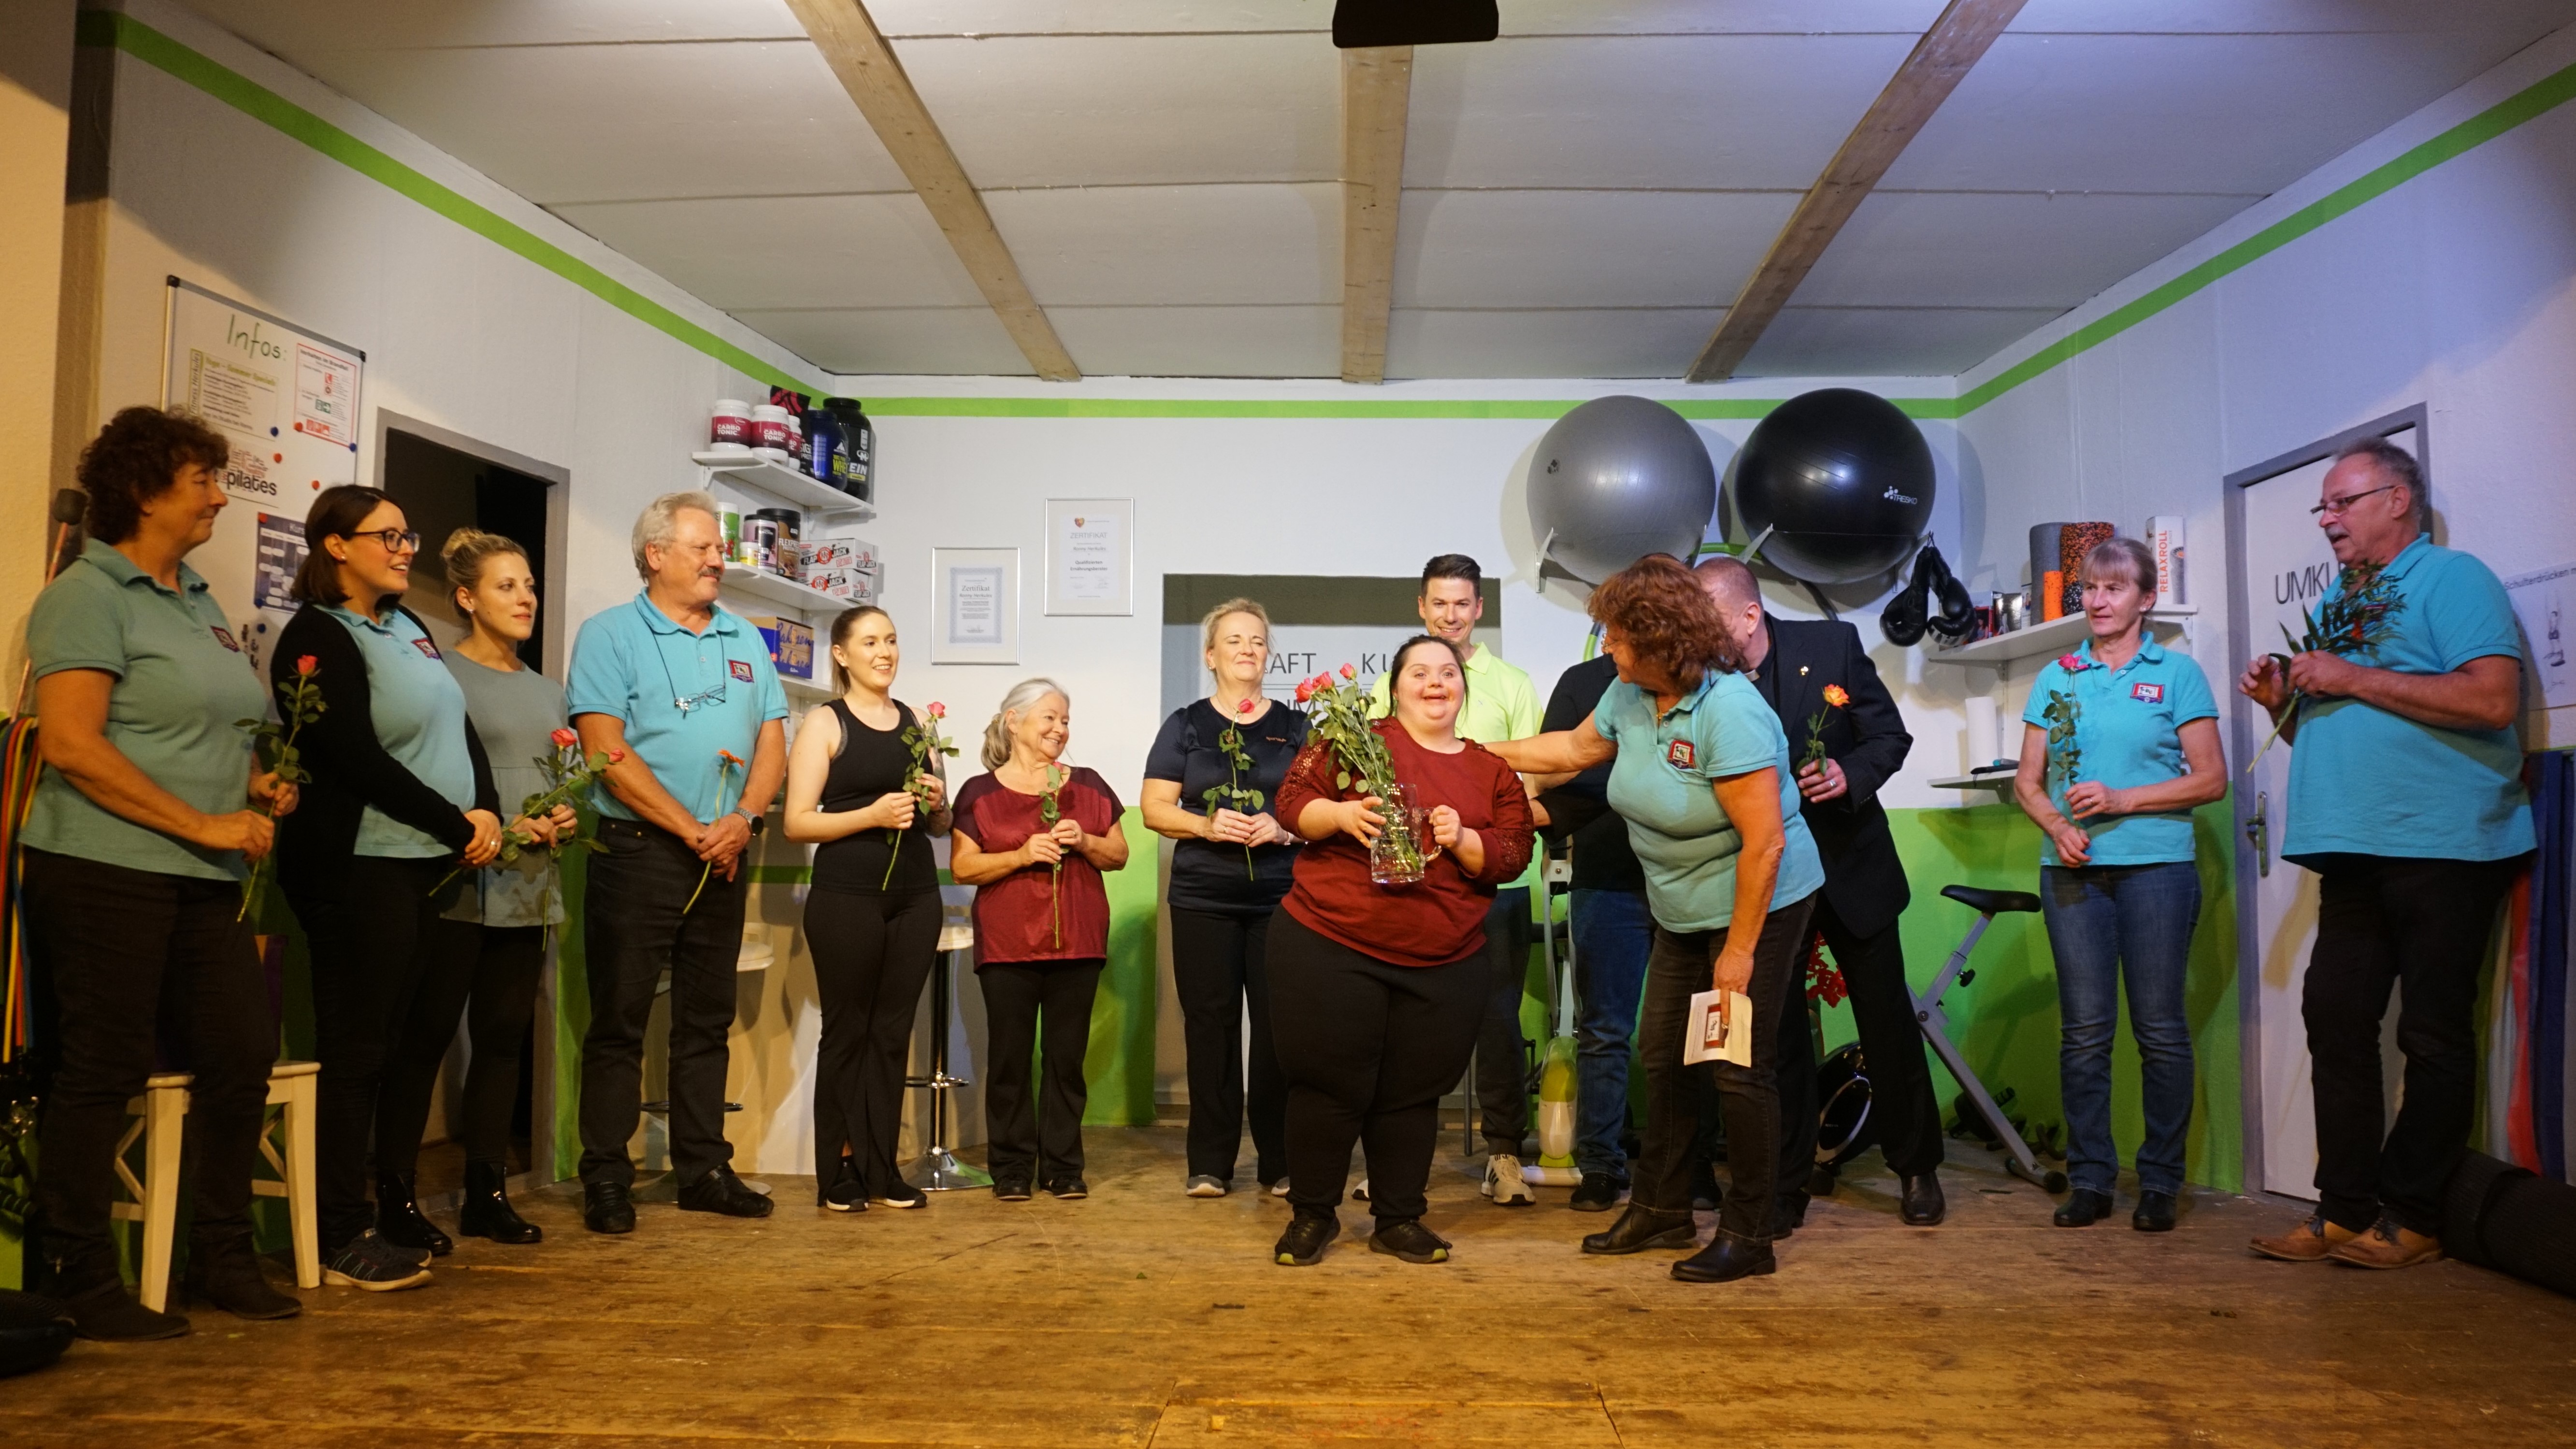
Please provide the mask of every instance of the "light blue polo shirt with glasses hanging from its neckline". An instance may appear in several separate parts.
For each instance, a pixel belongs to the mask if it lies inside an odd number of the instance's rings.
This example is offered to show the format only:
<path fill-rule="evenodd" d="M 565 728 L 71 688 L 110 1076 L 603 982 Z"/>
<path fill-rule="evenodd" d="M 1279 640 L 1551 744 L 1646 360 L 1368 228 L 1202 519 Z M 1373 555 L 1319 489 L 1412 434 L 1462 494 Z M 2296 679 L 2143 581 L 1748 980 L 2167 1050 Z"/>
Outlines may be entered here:
<path fill-rule="evenodd" d="M 706 633 L 690 633 L 647 595 L 582 620 L 564 705 L 572 718 L 626 721 L 626 749 L 701 821 L 742 803 L 742 770 L 721 752 L 747 770 L 760 726 L 788 718 L 788 692 L 757 628 L 716 605 Z M 605 788 L 592 800 L 600 813 L 636 818 Z"/>

